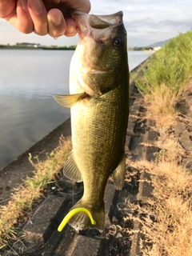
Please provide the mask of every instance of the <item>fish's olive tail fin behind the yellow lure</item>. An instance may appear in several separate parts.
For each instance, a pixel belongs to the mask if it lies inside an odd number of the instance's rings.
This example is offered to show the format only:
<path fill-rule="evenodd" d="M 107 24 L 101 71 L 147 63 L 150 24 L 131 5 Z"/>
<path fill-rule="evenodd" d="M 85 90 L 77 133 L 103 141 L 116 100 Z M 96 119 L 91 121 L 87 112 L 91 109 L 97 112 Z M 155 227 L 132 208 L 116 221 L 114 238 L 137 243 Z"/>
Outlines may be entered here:
<path fill-rule="evenodd" d="M 83 200 L 79 200 L 70 210 L 74 210 L 75 208 L 86 208 L 90 211 L 90 214 L 94 218 L 96 225 L 92 225 L 90 222 L 89 216 L 85 212 L 79 212 L 74 214 L 70 221 L 68 222 L 70 226 L 73 226 L 75 230 L 86 230 L 86 229 L 93 229 L 96 228 L 102 232 L 105 223 L 105 209 L 104 209 L 104 202 L 100 208 L 91 206 Z"/>

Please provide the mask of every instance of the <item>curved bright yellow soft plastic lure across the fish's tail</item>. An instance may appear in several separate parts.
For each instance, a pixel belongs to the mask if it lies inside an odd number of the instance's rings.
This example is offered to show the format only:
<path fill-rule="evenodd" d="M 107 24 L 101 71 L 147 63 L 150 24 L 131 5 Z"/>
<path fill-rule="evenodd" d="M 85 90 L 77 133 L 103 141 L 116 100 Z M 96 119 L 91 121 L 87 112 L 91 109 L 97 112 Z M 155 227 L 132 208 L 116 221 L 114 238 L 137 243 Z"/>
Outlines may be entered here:
<path fill-rule="evenodd" d="M 61 232 L 64 229 L 64 227 L 66 226 L 66 223 L 69 222 L 70 218 L 72 218 L 74 216 L 74 214 L 77 214 L 81 211 L 84 211 L 90 217 L 90 222 L 92 225 L 96 225 L 96 222 L 94 221 L 94 218 L 90 214 L 90 211 L 87 210 L 86 208 L 80 207 L 80 208 L 76 208 L 74 210 L 70 210 L 70 212 L 68 214 L 66 214 L 66 217 L 63 218 L 61 224 L 58 226 L 58 232 Z"/>

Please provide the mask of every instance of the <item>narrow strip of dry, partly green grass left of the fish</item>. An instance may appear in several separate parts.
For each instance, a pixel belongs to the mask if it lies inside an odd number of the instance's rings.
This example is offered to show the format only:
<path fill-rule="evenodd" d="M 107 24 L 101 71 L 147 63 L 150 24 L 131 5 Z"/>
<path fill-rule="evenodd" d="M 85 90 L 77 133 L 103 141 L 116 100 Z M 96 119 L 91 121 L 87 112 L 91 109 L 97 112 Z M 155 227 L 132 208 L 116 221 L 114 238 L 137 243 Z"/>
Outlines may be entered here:
<path fill-rule="evenodd" d="M 0 207 L 0 249 L 7 244 L 10 238 L 16 238 L 15 226 L 25 220 L 26 211 L 31 210 L 34 202 L 42 197 L 50 182 L 54 182 L 61 171 L 71 150 L 70 138 L 60 139 L 59 146 L 51 152 L 44 162 L 34 164 L 30 155 L 30 162 L 34 166 L 34 177 L 27 178 L 24 185 L 19 186 L 12 194 L 10 202 Z M 38 160 L 38 158 L 36 157 Z"/>

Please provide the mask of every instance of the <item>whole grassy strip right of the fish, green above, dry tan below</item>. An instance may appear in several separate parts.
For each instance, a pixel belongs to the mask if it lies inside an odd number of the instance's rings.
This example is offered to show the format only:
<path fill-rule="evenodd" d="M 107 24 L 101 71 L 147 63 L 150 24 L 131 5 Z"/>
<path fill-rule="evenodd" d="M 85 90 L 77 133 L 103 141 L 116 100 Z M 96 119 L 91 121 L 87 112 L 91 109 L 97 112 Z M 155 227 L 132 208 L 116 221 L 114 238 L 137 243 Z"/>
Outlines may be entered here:
<path fill-rule="evenodd" d="M 185 123 L 192 129 L 192 120 L 180 114 L 178 103 L 182 93 L 192 93 L 192 32 L 179 34 L 150 61 L 137 86 L 146 101 L 148 113 L 156 126 L 160 148 L 155 162 L 136 162 L 140 170 L 152 176 L 154 198 L 139 209 L 145 216 L 140 241 L 144 256 L 192 255 L 192 175 L 184 158 L 191 157 L 178 142 L 174 126 Z"/>

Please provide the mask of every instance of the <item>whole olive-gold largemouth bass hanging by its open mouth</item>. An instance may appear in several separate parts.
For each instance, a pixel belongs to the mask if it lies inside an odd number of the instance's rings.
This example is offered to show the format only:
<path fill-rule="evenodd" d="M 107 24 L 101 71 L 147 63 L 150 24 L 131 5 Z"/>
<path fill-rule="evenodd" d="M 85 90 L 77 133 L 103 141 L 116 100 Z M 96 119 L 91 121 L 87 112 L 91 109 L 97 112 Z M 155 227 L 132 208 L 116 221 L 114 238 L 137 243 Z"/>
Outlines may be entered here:
<path fill-rule="evenodd" d="M 104 193 L 110 175 L 117 190 L 125 179 L 126 127 L 129 114 L 129 69 L 122 12 L 111 15 L 73 14 L 79 42 L 70 63 L 70 95 L 54 95 L 71 107 L 73 150 L 64 174 L 83 182 L 82 199 L 72 209 L 75 230 L 97 228 L 105 222 Z"/>

